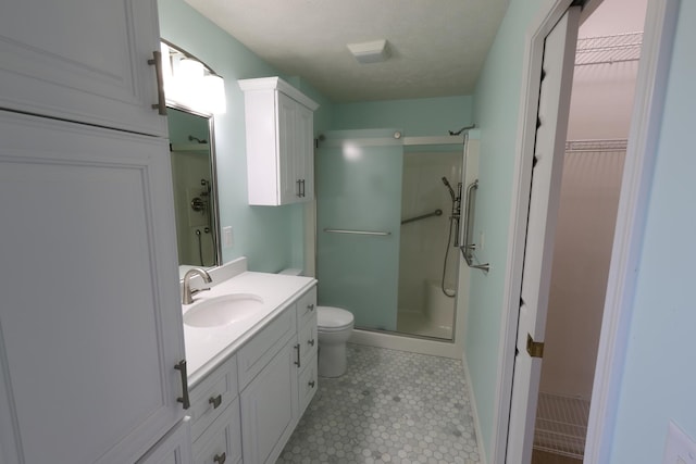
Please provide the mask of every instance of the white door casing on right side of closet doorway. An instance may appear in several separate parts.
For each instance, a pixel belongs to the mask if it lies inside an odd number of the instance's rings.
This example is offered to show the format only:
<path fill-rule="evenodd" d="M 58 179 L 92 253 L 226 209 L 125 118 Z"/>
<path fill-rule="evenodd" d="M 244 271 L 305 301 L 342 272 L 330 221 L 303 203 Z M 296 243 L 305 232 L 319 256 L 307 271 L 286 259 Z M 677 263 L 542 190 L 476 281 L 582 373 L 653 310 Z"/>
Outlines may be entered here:
<path fill-rule="evenodd" d="M 606 463 L 621 387 L 645 216 L 662 120 L 679 0 L 648 2 L 635 103 L 595 368 L 586 463 Z"/>

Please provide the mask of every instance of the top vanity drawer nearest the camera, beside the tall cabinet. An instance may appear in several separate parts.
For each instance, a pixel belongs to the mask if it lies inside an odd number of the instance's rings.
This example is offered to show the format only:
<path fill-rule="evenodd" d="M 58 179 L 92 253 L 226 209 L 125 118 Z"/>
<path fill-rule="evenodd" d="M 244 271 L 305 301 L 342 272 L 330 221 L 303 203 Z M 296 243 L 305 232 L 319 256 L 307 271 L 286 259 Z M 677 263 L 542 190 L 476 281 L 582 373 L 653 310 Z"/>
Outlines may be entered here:
<path fill-rule="evenodd" d="M 232 356 L 191 390 L 191 438 L 201 436 L 237 397 L 237 358 Z"/>

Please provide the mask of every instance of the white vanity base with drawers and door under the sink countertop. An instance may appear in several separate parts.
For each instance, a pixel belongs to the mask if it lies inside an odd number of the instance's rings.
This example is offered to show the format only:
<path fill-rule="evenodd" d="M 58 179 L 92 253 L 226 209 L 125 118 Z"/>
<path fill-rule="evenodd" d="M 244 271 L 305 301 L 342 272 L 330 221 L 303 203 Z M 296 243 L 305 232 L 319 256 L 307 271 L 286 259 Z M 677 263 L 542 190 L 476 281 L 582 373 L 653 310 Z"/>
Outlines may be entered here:
<path fill-rule="evenodd" d="M 315 286 L 284 304 L 194 386 L 196 464 L 274 463 L 316 391 Z"/>

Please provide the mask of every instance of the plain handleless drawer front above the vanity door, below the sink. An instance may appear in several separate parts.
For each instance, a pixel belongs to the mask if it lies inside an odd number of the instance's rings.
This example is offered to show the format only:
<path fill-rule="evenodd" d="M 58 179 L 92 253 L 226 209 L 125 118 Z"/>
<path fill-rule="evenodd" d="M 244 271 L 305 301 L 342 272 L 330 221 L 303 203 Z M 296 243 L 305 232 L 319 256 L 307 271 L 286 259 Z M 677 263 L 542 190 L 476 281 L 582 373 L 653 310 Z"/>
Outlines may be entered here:
<path fill-rule="evenodd" d="M 241 347 L 237 353 L 239 390 L 244 390 L 263 366 L 295 336 L 295 305 L 293 304 Z"/>

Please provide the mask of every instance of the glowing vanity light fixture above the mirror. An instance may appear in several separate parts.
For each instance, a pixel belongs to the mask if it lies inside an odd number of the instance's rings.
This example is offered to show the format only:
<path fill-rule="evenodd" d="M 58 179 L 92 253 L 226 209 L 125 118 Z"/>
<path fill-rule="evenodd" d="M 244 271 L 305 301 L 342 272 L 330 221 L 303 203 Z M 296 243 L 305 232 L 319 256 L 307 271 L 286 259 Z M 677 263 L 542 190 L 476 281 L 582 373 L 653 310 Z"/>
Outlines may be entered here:
<path fill-rule="evenodd" d="M 164 93 L 169 102 L 201 113 L 226 111 L 225 81 L 194 55 L 161 42 Z"/>

